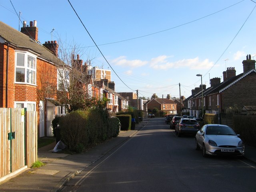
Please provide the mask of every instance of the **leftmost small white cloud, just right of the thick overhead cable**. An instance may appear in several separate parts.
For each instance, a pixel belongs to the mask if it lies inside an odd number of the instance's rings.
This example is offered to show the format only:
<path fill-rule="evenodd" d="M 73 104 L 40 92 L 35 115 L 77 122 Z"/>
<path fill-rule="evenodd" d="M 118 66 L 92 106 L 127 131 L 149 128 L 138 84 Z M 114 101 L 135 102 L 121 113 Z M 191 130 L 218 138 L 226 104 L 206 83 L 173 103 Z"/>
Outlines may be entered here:
<path fill-rule="evenodd" d="M 148 61 L 142 61 L 142 60 L 127 60 L 126 56 L 120 56 L 114 60 L 111 61 L 113 64 L 118 65 L 118 66 L 125 66 L 125 67 L 141 67 L 146 64 L 148 64 Z"/>

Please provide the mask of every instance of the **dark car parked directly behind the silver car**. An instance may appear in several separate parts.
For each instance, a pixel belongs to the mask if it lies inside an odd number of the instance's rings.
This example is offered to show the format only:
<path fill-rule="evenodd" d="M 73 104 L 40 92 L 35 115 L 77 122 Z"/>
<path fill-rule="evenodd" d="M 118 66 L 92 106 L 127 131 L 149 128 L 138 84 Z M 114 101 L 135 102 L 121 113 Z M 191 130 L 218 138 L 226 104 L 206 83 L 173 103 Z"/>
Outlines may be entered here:
<path fill-rule="evenodd" d="M 175 132 L 180 137 L 182 134 L 196 135 L 200 129 L 200 125 L 195 119 L 182 118 L 175 126 Z"/>

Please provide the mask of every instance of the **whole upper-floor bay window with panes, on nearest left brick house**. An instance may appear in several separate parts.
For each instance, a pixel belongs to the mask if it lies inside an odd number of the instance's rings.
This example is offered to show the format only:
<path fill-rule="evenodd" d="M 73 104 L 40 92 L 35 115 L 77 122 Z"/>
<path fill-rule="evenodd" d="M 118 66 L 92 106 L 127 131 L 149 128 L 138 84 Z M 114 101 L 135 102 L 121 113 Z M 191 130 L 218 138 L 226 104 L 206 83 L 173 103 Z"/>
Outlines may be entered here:
<path fill-rule="evenodd" d="M 36 56 L 16 52 L 15 82 L 36 84 Z"/>

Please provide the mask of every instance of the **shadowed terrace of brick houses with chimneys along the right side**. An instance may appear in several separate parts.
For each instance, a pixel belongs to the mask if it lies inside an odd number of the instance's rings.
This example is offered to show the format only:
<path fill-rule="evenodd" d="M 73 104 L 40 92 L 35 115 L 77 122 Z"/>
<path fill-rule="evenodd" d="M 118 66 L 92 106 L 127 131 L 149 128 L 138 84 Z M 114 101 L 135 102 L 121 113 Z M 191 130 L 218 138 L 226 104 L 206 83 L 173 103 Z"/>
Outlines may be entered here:
<path fill-rule="evenodd" d="M 256 70 L 255 60 L 251 56 L 246 56 L 242 61 L 243 73 L 236 75 L 233 67 L 227 68 L 223 72 L 224 81 L 220 78 L 212 78 L 211 86 L 206 89 L 203 85 L 203 106 L 205 113 L 226 113 L 226 109 L 237 106 L 240 110 L 244 106 L 255 106 L 256 103 Z M 190 115 L 199 117 L 202 111 L 202 94 L 198 88 L 192 96 L 187 98 L 190 102 Z M 186 102 L 186 104 L 188 103 Z"/>

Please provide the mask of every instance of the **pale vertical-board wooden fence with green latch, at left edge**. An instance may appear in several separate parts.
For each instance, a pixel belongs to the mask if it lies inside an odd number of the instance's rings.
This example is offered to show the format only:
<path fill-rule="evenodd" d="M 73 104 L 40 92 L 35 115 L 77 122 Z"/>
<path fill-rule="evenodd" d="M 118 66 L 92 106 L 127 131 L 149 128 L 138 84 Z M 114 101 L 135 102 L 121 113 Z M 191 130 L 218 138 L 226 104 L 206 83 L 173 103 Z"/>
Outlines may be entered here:
<path fill-rule="evenodd" d="M 0 178 L 37 160 L 37 112 L 0 108 Z"/>

